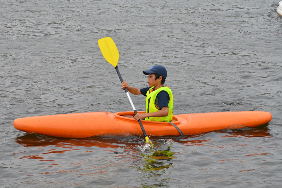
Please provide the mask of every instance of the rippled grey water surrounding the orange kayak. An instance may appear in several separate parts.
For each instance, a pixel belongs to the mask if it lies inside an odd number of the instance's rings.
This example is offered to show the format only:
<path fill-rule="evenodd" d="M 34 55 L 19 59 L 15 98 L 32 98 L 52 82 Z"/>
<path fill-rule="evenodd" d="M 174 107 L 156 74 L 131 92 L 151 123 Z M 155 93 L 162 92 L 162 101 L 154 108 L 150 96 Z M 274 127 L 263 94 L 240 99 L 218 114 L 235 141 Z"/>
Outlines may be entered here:
<path fill-rule="evenodd" d="M 282 19 L 276 1 L 1 1 L 1 187 L 281 187 Z M 130 111 L 129 85 L 164 65 L 174 113 L 268 111 L 259 128 L 151 140 L 55 138 L 20 117 Z M 137 110 L 144 97 L 132 96 Z"/>

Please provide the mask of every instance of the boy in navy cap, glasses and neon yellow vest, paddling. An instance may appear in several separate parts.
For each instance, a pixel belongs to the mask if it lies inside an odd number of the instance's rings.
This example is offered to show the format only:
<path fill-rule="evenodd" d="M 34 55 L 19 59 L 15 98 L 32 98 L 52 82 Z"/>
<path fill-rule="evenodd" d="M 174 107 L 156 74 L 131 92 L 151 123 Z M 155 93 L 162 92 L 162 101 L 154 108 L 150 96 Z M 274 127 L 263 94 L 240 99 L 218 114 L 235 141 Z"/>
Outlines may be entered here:
<path fill-rule="evenodd" d="M 146 113 L 137 113 L 135 116 L 124 115 L 125 117 L 145 119 L 150 121 L 171 122 L 173 115 L 173 96 L 170 88 L 164 86 L 167 71 L 161 65 L 154 65 L 150 70 L 143 71 L 148 75 L 149 87 L 137 89 L 128 86 L 127 82 L 122 83 L 122 89 L 127 88 L 134 95 L 146 96 Z"/>

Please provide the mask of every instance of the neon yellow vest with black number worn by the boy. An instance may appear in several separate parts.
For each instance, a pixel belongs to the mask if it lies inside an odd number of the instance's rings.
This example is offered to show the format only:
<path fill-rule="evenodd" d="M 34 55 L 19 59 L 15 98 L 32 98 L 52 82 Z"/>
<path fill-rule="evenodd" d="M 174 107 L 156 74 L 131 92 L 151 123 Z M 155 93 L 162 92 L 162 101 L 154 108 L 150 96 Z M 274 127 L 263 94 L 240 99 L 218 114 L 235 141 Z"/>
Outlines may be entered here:
<path fill-rule="evenodd" d="M 173 95 L 171 89 L 168 86 L 160 87 L 157 90 L 154 90 L 154 88 L 155 88 L 154 86 L 151 87 L 150 90 L 147 91 L 146 93 L 146 113 L 159 111 L 159 107 L 156 104 L 156 98 L 160 91 L 166 91 L 170 96 L 170 101 L 168 103 L 169 113 L 168 116 L 165 117 L 150 117 L 150 118 L 145 118 L 145 120 L 158 121 L 158 122 L 171 122 L 173 115 Z"/>

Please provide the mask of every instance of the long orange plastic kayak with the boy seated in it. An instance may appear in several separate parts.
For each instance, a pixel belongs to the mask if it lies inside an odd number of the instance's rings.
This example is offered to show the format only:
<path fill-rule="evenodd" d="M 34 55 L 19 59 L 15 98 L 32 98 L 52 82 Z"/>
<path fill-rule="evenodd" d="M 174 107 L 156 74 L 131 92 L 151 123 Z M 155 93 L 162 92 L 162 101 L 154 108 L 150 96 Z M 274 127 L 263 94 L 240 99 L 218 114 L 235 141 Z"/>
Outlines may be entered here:
<path fill-rule="evenodd" d="M 145 112 L 138 112 L 145 113 Z M 18 118 L 14 127 L 27 133 L 65 138 L 86 138 L 101 135 L 143 135 L 138 121 L 122 115 L 134 112 L 86 112 Z M 174 123 L 184 135 L 196 135 L 221 129 L 257 127 L 272 119 L 269 112 L 209 112 L 174 115 Z M 151 136 L 179 136 L 168 122 L 141 120 Z"/>

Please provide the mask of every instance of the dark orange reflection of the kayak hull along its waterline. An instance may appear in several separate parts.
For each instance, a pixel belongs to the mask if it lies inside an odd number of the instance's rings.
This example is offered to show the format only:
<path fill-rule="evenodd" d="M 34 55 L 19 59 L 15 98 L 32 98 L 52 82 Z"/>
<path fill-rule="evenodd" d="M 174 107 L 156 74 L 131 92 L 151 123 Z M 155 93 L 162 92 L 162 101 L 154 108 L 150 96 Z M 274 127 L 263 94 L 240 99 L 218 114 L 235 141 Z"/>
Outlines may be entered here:
<path fill-rule="evenodd" d="M 219 130 L 215 131 L 216 133 L 224 133 L 224 135 L 220 136 L 224 137 L 240 137 L 240 138 L 251 138 L 251 137 L 266 137 L 270 136 L 268 133 L 268 128 L 266 125 L 260 126 L 258 128 L 244 128 L 244 129 L 228 129 L 228 130 Z M 205 145 L 204 143 L 210 142 L 211 139 L 189 139 L 185 138 L 201 138 L 203 135 L 208 134 L 200 134 L 200 135 L 192 135 L 185 137 L 171 137 L 174 142 L 178 142 L 181 144 L 187 144 L 189 146 L 201 146 Z M 167 137 L 165 137 L 167 138 Z M 164 139 L 161 137 L 151 137 L 151 140 L 159 140 Z M 134 148 L 137 145 L 143 144 L 142 137 L 89 137 L 89 138 L 60 138 L 60 137 L 51 137 L 40 134 L 25 134 L 24 136 L 20 136 L 15 138 L 15 142 L 21 144 L 24 147 L 45 147 L 45 146 L 55 146 L 60 147 L 64 150 L 55 150 L 49 149 L 47 153 L 65 153 L 66 151 L 76 150 L 75 147 L 83 146 L 83 147 L 98 147 L 98 148 L 111 148 L 117 149 L 120 147 Z M 112 151 L 112 150 L 109 150 Z M 86 150 L 84 152 L 93 152 L 91 150 Z"/>

